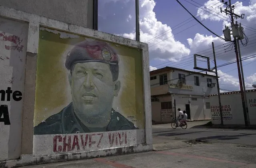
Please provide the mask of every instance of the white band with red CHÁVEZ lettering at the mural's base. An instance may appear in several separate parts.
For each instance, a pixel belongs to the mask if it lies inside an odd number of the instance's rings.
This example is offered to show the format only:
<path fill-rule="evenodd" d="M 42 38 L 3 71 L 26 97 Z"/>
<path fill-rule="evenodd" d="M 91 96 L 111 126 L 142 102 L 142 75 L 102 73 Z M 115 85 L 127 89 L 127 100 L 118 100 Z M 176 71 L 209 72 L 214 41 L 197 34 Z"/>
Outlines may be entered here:
<path fill-rule="evenodd" d="M 144 129 L 83 134 L 34 135 L 33 156 L 89 152 L 144 143 Z"/>

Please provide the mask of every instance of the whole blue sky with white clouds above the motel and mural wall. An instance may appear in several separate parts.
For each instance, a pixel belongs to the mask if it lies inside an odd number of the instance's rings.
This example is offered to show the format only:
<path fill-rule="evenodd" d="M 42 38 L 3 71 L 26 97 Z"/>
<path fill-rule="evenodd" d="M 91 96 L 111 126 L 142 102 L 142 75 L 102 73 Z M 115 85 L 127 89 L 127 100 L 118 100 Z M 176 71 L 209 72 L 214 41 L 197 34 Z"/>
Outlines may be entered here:
<path fill-rule="evenodd" d="M 151 69 L 171 66 L 194 70 L 193 54 L 213 57 L 212 42 L 215 45 L 217 65 L 236 59 L 232 43 L 219 39 L 198 24 L 176 0 L 140 0 L 139 2 L 140 38 L 141 42 L 149 45 Z M 220 13 L 220 7 L 223 8 L 220 0 L 194 0 L 194 2 L 179 0 L 179 2 L 210 30 L 223 36 L 222 31 L 225 25 L 230 24 L 230 18 Z M 247 46 L 240 43 L 242 57 L 256 54 L 254 47 L 256 46 L 256 0 L 231 2 L 236 4 L 234 11 L 236 14 L 245 14 L 244 19 L 237 20 L 238 23 L 242 21 L 241 23 L 245 25 L 244 31 L 249 39 Z M 98 22 L 100 31 L 134 40 L 135 0 L 99 0 Z M 206 66 L 202 61 L 198 61 L 198 65 Z M 256 57 L 243 61 L 243 65 L 246 88 L 252 89 L 252 84 L 256 84 Z M 236 63 L 218 68 L 220 88 L 239 90 L 236 68 Z"/>

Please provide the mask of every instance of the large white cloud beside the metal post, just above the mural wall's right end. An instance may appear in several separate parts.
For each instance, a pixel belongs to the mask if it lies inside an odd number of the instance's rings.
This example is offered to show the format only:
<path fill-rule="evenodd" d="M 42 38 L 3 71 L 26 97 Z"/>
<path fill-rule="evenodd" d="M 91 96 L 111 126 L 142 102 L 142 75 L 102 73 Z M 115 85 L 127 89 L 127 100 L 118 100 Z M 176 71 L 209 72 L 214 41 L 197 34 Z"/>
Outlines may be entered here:
<path fill-rule="evenodd" d="M 175 40 L 171 28 L 157 21 L 155 12 L 153 12 L 154 7 L 155 1 L 140 0 L 140 38 L 141 42 L 147 42 L 149 44 L 150 59 L 173 60 L 173 58 L 181 58 L 185 55 L 189 55 L 190 50 L 181 42 Z M 162 34 L 162 37 L 154 41 L 151 40 L 165 31 L 169 33 L 165 35 Z M 135 32 L 125 33 L 119 36 L 134 40 Z"/>

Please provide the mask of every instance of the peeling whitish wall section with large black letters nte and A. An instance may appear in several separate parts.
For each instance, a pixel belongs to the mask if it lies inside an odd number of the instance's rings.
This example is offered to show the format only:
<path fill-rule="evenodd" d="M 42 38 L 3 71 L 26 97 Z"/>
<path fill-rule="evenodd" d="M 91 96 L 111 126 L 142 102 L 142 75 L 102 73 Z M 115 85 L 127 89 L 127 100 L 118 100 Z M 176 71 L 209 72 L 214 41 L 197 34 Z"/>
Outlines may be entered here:
<path fill-rule="evenodd" d="M 0 17 L 0 161 L 20 157 L 28 23 Z"/>

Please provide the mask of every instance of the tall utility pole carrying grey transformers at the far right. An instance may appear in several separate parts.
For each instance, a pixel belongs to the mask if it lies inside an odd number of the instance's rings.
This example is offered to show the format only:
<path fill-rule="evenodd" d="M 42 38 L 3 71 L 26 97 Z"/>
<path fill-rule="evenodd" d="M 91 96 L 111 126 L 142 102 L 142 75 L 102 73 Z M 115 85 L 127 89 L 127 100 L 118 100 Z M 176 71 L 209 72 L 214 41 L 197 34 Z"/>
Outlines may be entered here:
<path fill-rule="evenodd" d="M 229 9 L 230 9 L 230 15 L 231 15 L 231 22 L 234 25 L 234 18 L 233 18 L 233 10 L 231 5 L 231 0 L 229 0 Z M 244 89 L 243 89 L 243 83 L 242 83 L 242 77 L 241 77 L 241 70 L 239 65 L 239 56 L 238 56 L 238 47 L 237 47 L 237 40 L 234 38 L 234 46 L 235 46 L 235 52 L 236 52 L 236 63 L 237 63 L 237 69 L 238 69 L 238 78 L 239 78 L 239 84 L 240 84 L 240 92 L 241 92 L 241 98 L 242 98 L 242 106 L 244 111 L 244 123 L 246 126 L 248 126 L 247 121 L 247 115 L 246 115 L 246 107 L 244 103 Z"/>

